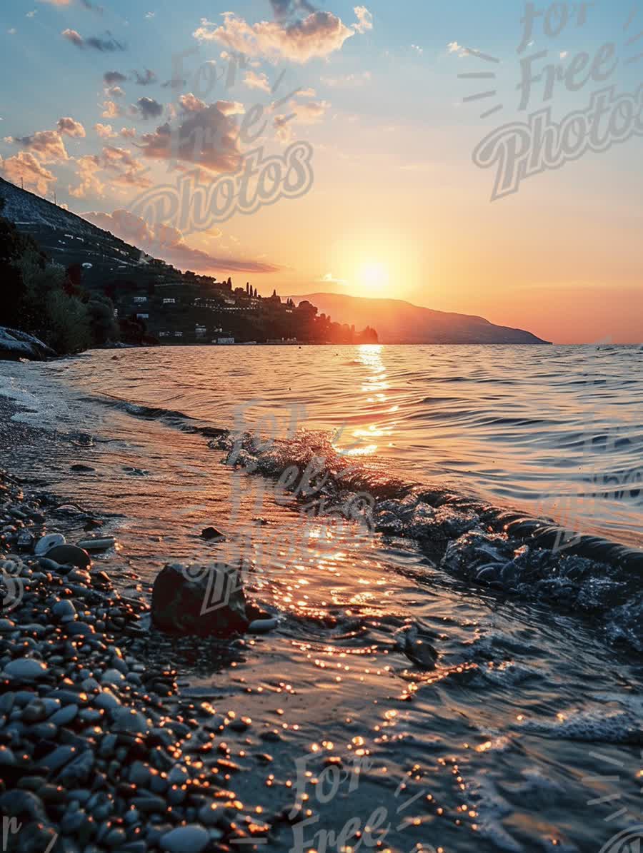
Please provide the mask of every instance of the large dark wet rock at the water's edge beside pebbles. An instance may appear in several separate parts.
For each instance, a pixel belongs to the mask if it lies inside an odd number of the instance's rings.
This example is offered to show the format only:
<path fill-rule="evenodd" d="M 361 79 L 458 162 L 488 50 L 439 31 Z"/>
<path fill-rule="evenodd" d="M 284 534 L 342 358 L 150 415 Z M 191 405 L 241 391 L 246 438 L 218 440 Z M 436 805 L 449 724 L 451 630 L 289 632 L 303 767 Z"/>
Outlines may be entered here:
<path fill-rule="evenodd" d="M 165 566 L 152 591 L 152 618 L 172 633 L 230 636 L 248 628 L 241 577 L 233 566 Z"/>

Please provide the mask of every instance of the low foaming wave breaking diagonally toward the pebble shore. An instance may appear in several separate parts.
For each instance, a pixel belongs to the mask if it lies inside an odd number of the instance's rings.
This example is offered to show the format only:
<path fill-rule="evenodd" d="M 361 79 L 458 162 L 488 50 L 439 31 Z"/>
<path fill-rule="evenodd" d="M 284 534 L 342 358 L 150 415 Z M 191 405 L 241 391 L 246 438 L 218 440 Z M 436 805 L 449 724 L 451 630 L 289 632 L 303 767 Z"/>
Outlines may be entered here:
<path fill-rule="evenodd" d="M 184 412 L 111 399 L 129 415 L 198 432 L 225 464 L 279 480 L 294 499 L 366 522 L 384 543 L 409 538 L 435 569 L 471 588 L 547 603 L 593 619 L 605 635 L 643 652 L 643 551 L 580 536 L 552 519 L 393 476 L 385 461 L 343 455 L 321 431 L 292 438 L 232 432 Z M 285 475 L 294 472 L 292 476 Z"/>

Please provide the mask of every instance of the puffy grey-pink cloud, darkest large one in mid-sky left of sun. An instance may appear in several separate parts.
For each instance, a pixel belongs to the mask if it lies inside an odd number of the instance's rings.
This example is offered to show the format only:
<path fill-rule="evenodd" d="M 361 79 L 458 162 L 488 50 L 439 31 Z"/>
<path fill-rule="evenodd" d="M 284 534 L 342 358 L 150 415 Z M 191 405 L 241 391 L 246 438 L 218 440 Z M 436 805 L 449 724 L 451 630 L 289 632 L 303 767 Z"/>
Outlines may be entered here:
<path fill-rule="evenodd" d="M 189 108 L 186 109 L 186 105 Z M 169 122 L 141 137 L 145 157 L 185 160 L 215 172 L 234 171 L 241 162 L 237 148 L 238 127 L 216 104 L 206 105 L 185 96 L 186 112 L 178 126 Z"/>

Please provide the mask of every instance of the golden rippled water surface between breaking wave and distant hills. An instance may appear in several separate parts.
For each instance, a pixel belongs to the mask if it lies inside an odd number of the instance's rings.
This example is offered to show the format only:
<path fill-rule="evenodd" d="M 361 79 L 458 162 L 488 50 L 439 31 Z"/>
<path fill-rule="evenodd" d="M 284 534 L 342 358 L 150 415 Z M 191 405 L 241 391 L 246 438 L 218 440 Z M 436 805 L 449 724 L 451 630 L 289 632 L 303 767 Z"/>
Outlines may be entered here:
<path fill-rule="evenodd" d="M 44 369 L 222 427 L 337 431 L 404 479 L 643 544 L 639 347 L 178 347 Z"/>

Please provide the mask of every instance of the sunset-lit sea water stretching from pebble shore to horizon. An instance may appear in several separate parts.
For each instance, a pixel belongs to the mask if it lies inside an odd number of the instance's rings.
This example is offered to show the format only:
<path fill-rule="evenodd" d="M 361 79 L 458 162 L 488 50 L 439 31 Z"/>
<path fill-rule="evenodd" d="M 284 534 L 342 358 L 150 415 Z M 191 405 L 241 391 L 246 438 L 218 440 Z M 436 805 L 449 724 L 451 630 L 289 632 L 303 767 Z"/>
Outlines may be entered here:
<path fill-rule="evenodd" d="M 379 849 L 400 853 L 598 853 L 643 813 L 641 357 L 100 351 L 2 364 L 0 388 L 20 418 L 56 430 L 13 448 L 9 467 L 106 519 L 120 546 L 105 567 L 132 594 L 146 595 L 167 560 L 216 559 L 224 546 L 199 537 L 208 524 L 230 547 L 248 537 L 248 593 L 280 628 L 225 650 L 150 644 L 178 665 L 186 696 L 253 718 L 235 757 L 252 772 L 230 780 L 245 803 L 265 817 L 306 792 L 308 840 L 370 820 L 389 827 Z M 247 432 L 243 448 L 212 427 Z M 231 451 L 241 466 L 223 464 Z M 303 471 L 316 454 L 333 471 L 331 499 L 347 482 L 372 491 L 378 532 L 277 490 L 284 466 Z M 78 463 L 94 470 L 73 473 Z M 521 514 L 586 538 L 544 547 Z M 82 530 L 73 514 L 60 526 Z M 598 537 L 628 546 L 627 559 Z M 281 740 L 259 740 L 268 728 Z M 334 790 L 329 757 L 361 768 L 359 784 Z M 284 824 L 270 849 L 297 843 Z"/>

